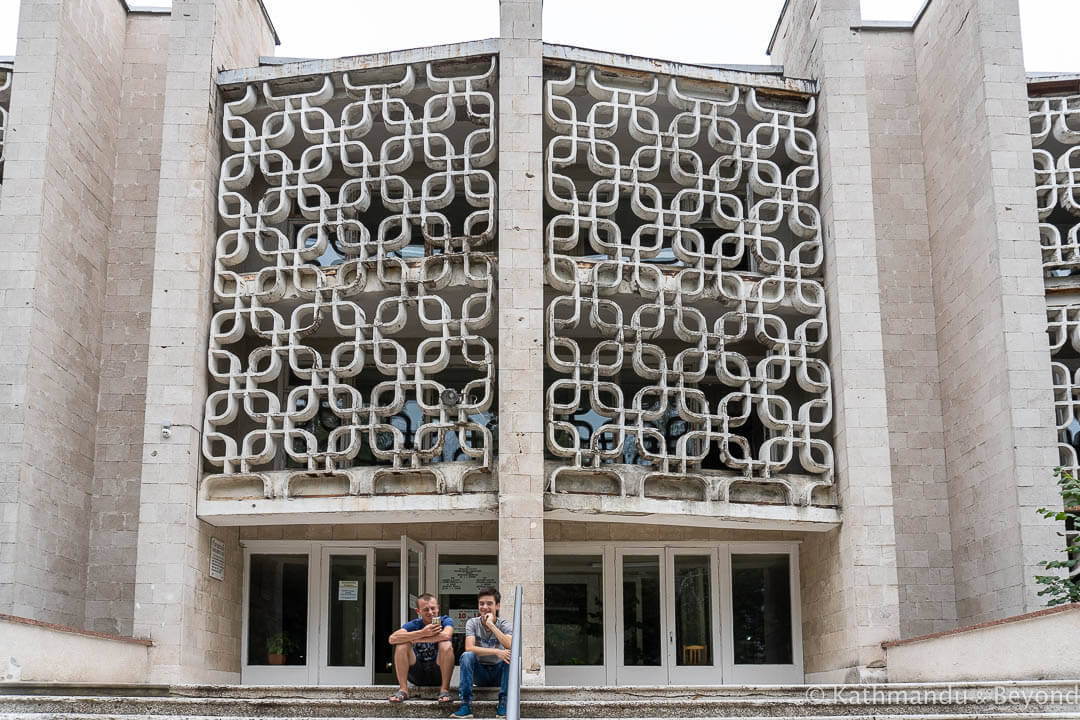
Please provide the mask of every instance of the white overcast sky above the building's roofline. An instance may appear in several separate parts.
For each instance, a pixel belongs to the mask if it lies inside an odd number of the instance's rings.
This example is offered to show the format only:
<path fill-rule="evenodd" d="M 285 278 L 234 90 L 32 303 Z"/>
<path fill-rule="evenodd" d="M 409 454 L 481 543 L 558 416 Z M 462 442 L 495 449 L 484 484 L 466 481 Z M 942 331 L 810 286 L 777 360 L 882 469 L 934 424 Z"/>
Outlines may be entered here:
<path fill-rule="evenodd" d="M 168 5 L 168 0 L 129 0 Z M 935 0 L 943 2 L 948 0 Z M 492 38 L 498 0 L 265 0 L 278 55 L 339 57 Z M 543 37 L 686 63 L 765 65 L 783 0 L 544 0 Z M 922 0 L 862 0 L 864 19 L 910 21 Z M 1080 72 L 1080 0 L 1020 0 L 1027 69 Z M 0 0 L 0 55 L 14 55 L 18 0 Z"/>

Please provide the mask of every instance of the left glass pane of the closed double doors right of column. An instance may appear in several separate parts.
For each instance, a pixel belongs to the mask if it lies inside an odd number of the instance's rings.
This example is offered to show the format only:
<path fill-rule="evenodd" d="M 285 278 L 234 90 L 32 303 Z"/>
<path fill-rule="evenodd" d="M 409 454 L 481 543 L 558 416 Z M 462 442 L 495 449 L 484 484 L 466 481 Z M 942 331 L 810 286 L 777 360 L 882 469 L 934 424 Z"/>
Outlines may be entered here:
<path fill-rule="evenodd" d="M 622 661 L 660 665 L 660 558 L 622 558 Z"/>

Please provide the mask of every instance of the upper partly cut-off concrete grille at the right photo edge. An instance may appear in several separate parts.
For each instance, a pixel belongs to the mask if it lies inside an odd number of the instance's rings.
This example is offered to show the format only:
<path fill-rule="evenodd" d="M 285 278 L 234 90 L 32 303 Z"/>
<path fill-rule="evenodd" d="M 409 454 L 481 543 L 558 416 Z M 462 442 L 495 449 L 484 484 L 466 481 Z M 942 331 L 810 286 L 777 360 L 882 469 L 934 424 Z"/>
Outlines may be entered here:
<path fill-rule="evenodd" d="M 1028 107 L 1042 267 L 1054 281 L 1080 272 L 1080 95 L 1032 97 Z"/>

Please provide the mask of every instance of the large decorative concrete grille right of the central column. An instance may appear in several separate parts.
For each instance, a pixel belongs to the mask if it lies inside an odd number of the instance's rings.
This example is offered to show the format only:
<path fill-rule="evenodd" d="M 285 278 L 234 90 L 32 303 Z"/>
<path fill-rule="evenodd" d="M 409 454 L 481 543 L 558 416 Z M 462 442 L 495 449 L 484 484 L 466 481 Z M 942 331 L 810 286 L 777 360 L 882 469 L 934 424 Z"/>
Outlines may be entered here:
<path fill-rule="evenodd" d="M 833 479 L 813 98 L 548 74 L 549 489 L 811 503 Z"/>

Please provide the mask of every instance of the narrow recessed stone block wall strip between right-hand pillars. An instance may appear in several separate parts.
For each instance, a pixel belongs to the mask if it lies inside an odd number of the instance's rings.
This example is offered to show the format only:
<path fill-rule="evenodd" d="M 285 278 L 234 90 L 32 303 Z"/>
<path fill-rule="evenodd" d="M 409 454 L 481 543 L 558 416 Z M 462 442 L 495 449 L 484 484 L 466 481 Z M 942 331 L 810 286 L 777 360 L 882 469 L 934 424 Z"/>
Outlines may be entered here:
<path fill-rule="evenodd" d="M 900 634 L 956 626 L 922 128 L 910 30 L 863 28 Z"/>

